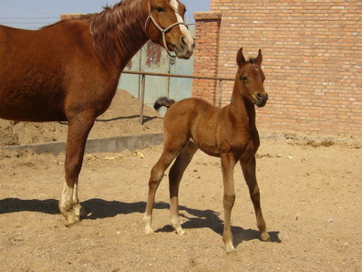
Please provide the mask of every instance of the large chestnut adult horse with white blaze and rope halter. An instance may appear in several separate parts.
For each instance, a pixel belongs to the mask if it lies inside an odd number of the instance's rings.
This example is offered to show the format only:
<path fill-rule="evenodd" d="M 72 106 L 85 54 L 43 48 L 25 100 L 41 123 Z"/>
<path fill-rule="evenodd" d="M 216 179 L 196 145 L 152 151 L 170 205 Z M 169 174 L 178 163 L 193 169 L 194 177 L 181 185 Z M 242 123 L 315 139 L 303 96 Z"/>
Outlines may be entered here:
<path fill-rule="evenodd" d="M 178 0 L 124 0 L 36 31 L 0 26 L 0 118 L 68 122 L 59 201 L 66 225 L 85 215 L 78 175 L 88 132 L 109 108 L 130 58 L 149 39 L 170 55 L 191 57 L 194 39 L 184 13 Z"/>

